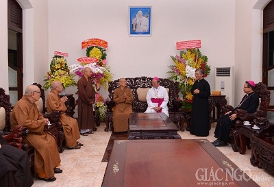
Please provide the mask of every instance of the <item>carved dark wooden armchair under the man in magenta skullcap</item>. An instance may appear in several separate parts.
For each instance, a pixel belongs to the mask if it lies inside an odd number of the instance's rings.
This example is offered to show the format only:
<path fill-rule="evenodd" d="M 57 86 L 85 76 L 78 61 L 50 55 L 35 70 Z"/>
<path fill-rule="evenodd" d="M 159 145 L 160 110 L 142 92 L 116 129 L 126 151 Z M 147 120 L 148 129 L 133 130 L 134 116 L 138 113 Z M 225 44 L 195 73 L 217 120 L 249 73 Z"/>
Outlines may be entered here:
<path fill-rule="evenodd" d="M 260 117 L 266 118 L 267 108 L 269 107 L 270 102 L 270 91 L 267 90 L 267 86 L 259 82 L 256 84 L 256 92 L 260 98 L 260 105 L 258 110 L 252 114 L 247 113 L 245 110 L 237 109 L 235 113 L 237 114 L 238 120 L 232 125 L 229 133 L 229 143 L 232 144 L 232 149 L 235 152 L 239 151 L 240 148 L 240 140 L 239 140 L 239 129 L 243 124 L 243 121 L 251 121 L 251 123 Z M 232 110 L 233 107 L 231 105 L 225 105 L 222 108 L 222 113 Z"/>

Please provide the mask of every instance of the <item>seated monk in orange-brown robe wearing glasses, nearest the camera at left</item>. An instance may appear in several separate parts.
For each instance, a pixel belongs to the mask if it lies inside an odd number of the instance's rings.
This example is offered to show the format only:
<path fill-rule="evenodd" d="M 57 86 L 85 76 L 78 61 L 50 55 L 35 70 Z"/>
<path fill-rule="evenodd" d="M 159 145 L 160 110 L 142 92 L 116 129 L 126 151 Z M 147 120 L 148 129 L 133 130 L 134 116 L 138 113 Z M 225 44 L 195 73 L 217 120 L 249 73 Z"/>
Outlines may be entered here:
<path fill-rule="evenodd" d="M 39 112 L 36 101 L 40 98 L 38 86 L 29 85 L 25 90 L 25 95 L 14 105 L 10 115 L 12 129 L 16 125 L 21 125 L 29 129 L 29 134 L 23 140 L 34 147 L 34 171 L 38 173 L 41 180 L 53 182 L 56 180 L 54 173 L 62 173 L 60 166 L 60 155 L 55 137 L 44 131 L 49 119 L 45 119 Z"/>

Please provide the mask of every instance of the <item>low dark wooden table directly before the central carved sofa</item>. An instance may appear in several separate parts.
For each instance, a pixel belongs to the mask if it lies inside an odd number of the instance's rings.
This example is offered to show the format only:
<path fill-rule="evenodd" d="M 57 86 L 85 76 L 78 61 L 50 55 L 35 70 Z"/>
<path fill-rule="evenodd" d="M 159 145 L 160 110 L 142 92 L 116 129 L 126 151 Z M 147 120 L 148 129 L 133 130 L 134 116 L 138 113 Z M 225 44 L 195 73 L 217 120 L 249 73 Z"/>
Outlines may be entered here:
<path fill-rule="evenodd" d="M 129 116 L 129 140 L 181 139 L 177 126 L 164 113 L 133 113 Z"/>

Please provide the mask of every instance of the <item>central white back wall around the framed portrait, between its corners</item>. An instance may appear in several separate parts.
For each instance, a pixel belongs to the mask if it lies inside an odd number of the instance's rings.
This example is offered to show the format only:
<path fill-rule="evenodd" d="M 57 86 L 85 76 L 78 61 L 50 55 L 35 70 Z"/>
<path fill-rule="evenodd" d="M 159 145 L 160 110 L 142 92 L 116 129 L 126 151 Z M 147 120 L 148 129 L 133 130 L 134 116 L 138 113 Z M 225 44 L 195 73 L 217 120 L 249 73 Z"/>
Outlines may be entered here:
<path fill-rule="evenodd" d="M 151 36 L 129 36 L 129 6 L 152 6 Z M 169 57 L 175 43 L 201 40 L 212 72 L 207 78 L 214 89 L 214 66 L 234 66 L 235 1 L 94 1 L 49 0 L 49 55 L 69 53 L 69 65 L 86 54 L 81 42 L 101 38 L 109 42 L 108 63 L 119 77 L 168 77 Z M 229 57 L 229 58 L 228 58 Z"/>

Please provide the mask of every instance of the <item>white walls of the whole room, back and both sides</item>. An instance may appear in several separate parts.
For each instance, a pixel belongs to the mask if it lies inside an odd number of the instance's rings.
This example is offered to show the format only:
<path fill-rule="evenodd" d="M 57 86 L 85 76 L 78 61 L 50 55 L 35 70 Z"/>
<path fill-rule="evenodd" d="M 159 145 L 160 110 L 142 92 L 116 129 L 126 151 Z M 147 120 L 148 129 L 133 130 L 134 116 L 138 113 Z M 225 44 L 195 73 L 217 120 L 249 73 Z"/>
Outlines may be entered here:
<path fill-rule="evenodd" d="M 212 72 L 206 78 L 214 89 L 214 67 L 235 66 L 236 101 L 247 79 L 262 79 L 262 9 L 269 0 L 89 1 L 18 0 L 23 7 L 24 88 L 43 83 L 54 51 L 69 53 L 77 63 L 85 56 L 82 40 L 109 42 L 108 63 L 119 77 L 168 77 L 169 55 L 179 53 L 175 42 L 201 40 Z M 151 36 L 129 36 L 129 6 L 152 6 Z M 7 2 L 0 1 L 0 86 L 8 90 Z M 7 46 L 7 47 L 5 47 Z M 70 88 L 74 92 L 76 88 Z M 107 92 L 105 92 L 107 95 Z"/>

